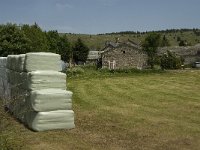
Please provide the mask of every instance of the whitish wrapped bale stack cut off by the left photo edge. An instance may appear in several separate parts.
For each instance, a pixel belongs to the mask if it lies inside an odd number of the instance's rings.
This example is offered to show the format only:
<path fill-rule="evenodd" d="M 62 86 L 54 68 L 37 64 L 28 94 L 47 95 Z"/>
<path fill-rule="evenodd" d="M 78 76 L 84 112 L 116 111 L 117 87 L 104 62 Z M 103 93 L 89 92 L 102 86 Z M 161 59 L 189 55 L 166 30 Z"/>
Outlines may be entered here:
<path fill-rule="evenodd" d="M 7 97 L 7 74 L 6 74 L 7 57 L 0 57 L 0 99 Z"/>

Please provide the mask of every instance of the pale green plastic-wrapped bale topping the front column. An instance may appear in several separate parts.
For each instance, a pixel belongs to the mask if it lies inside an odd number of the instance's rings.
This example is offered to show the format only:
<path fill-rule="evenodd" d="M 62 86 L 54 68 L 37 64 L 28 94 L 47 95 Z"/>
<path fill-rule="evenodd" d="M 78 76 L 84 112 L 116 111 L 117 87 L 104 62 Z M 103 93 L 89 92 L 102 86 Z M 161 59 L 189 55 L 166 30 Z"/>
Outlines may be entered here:
<path fill-rule="evenodd" d="M 36 70 L 61 71 L 60 58 L 60 55 L 54 53 L 27 53 L 24 67 L 27 72 Z"/>

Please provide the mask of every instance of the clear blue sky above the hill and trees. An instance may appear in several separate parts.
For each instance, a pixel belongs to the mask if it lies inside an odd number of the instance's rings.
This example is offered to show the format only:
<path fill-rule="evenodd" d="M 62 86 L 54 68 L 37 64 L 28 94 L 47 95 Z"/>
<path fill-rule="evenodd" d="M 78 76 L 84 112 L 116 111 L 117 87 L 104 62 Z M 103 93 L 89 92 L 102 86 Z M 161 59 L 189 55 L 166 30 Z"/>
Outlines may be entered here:
<path fill-rule="evenodd" d="M 0 0 L 0 24 L 71 33 L 200 28 L 200 0 Z"/>

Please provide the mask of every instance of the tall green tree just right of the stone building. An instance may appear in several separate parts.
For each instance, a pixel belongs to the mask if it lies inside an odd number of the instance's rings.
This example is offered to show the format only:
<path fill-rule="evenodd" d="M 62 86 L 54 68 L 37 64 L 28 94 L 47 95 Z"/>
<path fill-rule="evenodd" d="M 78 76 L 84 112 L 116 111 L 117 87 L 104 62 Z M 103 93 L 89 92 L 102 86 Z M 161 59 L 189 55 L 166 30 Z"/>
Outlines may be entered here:
<path fill-rule="evenodd" d="M 148 64 L 153 69 L 157 61 L 157 49 L 160 45 L 160 34 L 150 33 L 144 40 L 142 47 L 148 55 Z"/>

